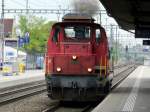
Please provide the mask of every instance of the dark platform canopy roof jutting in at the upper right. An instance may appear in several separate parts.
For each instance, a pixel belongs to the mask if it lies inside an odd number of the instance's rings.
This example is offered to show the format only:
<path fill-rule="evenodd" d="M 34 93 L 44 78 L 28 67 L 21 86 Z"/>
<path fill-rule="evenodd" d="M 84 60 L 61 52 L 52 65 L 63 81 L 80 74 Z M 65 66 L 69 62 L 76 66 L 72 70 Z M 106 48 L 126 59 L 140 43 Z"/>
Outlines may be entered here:
<path fill-rule="evenodd" d="M 150 0 L 100 0 L 121 28 L 150 27 Z"/>

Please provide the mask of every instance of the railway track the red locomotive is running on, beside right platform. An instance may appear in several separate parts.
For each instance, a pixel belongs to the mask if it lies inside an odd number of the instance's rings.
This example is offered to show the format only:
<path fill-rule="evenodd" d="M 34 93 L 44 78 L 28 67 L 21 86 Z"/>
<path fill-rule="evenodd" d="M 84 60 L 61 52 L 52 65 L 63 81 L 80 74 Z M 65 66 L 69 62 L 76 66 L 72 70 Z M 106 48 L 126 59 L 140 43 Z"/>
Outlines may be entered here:
<path fill-rule="evenodd" d="M 123 65 L 122 67 L 125 67 Z M 127 67 L 124 70 L 121 70 L 118 74 L 115 74 L 111 90 L 113 90 L 116 86 L 118 86 L 131 72 L 133 72 L 136 69 L 136 65 L 131 65 Z M 121 68 L 121 67 L 119 67 Z M 80 105 L 80 104 L 77 104 Z M 82 108 L 70 108 L 70 107 L 62 107 L 60 103 L 57 105 L 53 105 L 42 112 L 90 112 L 94 107 L 96 107 L 98 104 L 87 104 L 83 106 Z"/>

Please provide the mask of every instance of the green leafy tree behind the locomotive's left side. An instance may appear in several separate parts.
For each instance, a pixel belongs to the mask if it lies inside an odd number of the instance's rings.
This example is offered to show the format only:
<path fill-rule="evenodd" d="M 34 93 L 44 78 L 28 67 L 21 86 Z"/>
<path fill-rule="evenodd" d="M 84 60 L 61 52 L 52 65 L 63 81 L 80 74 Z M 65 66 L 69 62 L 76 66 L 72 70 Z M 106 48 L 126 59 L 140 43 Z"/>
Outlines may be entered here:
<path fill-rule="evenodd" d="M 27 19 L 26 16 L 20 16 L 19 28 L 22 35 L 25 32 L 30 33 L 30 43 L 25 45 L 23 50 L 28 53 L 44 53 L 50 29 L 54 23 L 54 21 L 46 21 L 40 17 L 30 16 Z"/>

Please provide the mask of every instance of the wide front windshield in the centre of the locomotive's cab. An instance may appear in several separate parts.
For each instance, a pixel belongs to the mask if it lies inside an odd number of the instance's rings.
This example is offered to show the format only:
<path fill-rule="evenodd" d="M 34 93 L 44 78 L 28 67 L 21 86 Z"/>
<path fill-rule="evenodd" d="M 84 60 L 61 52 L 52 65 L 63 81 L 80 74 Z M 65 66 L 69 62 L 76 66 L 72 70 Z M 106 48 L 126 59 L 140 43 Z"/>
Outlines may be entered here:
<path fill-rule="evenodd" d="M 88 40 L 91 35 L 89 26 L 67 26 L 64 28 L 64 31 L 67 39 Z"/>

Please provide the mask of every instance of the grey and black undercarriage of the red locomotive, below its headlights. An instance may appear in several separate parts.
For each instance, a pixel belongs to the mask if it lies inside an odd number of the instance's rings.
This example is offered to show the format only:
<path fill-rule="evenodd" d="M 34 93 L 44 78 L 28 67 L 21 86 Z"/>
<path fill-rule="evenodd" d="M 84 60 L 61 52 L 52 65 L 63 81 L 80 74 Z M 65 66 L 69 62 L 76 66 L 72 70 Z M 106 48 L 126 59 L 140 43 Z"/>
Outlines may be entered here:
<path fill-rule="evenodd" d="M 97 76 L 47 76 L 48 96 L 62 101 L 96 101 L 110 91 L 111 80 Z"/>

